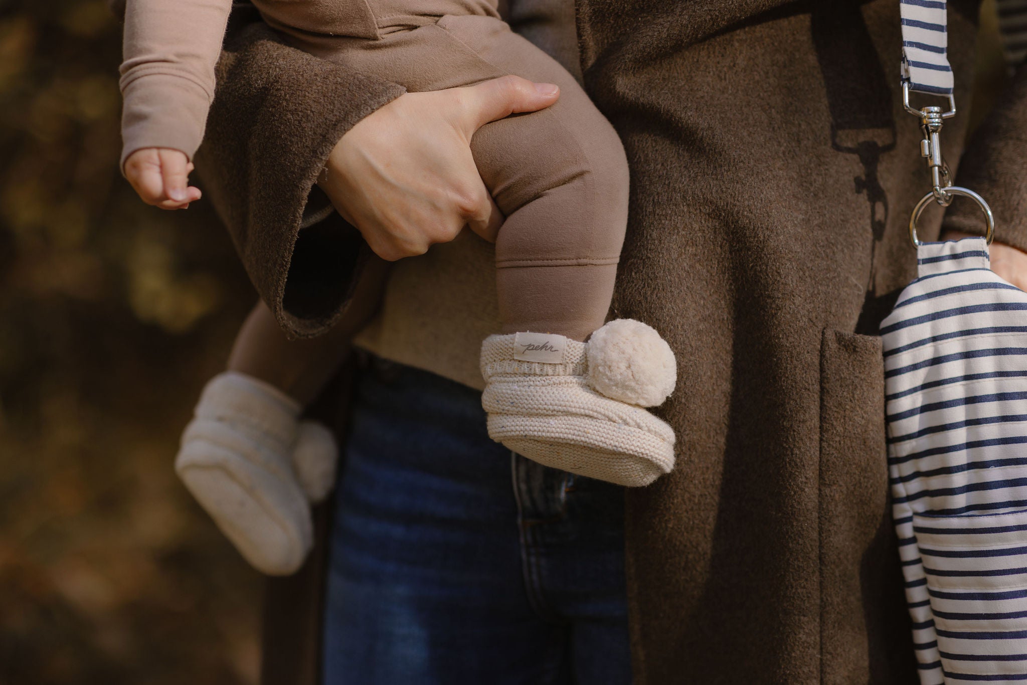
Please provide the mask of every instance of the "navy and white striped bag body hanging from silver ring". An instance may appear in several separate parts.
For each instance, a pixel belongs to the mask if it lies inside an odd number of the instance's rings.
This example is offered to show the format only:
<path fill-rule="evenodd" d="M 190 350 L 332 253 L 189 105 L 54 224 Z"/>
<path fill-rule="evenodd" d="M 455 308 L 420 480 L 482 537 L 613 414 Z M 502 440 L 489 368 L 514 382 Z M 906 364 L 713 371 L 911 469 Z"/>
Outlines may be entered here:
<path fill-rule="evenodd" d="M 923 685 L 1027 682 L 1027 293 L 925 242 L 881 324 L 888 472 Z"/>

